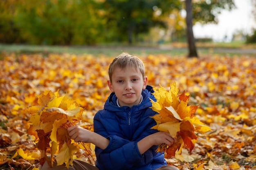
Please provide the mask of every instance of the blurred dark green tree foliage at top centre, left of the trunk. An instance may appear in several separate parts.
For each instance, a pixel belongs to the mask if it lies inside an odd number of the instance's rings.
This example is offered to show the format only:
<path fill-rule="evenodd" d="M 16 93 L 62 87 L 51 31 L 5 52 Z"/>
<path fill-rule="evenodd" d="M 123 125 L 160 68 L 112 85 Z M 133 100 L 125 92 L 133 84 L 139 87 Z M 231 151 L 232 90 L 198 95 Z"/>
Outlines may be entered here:
<path fill-rule="evenodd" d="M 106 29 L 116 40 L 132 43 L 139 33 L 148 33 L 151 27 L 166 28 L 160 15 L 179 8 L 179 0 L 105 0 L 102 8 L 107 18 Z"/>

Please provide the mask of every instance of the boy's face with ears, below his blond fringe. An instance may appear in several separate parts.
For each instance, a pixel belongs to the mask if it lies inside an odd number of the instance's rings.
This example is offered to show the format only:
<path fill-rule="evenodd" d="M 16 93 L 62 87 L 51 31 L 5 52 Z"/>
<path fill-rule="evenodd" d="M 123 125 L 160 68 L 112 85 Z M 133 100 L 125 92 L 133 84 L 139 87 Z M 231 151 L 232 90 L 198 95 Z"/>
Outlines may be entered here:
<path fill-rule="evenodd" d="M 142 77 L 140 71 L 133 67 L 125 69 L 115 68 L 112 83 L 108 80 L 108 87 L 115 92 L 120 106 L 138 105 L 141 101 L 141 91 L 146 88 L 147 77 Z"/>

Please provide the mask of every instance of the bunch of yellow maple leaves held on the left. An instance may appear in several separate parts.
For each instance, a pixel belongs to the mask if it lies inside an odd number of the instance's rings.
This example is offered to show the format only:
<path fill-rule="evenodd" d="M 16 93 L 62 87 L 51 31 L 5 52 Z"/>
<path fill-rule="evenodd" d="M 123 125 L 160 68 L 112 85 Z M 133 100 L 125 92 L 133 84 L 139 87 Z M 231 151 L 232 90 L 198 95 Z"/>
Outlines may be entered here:
<path fill-rule="evenodd" d="M 89 123 L 81 124 L 83 108 L 67 95 L 59 97 L 58 91 L 45 91 L 27 111 L 31 114 L 27 133 L 35 136 L 36 148 L 42 151 L 41 165 L 47 161 L 50 167 L 56 162 L 57 165 L 65 163 L 68 168 L 72 165 L 74 152 L 80 148 L 91 154 L 90 144 L 76 143 L 67 133 L 68 127 L 77 124 L 88 130 L 91 128 Z M 50 153 L 50 158 L 47 153 Z"/>

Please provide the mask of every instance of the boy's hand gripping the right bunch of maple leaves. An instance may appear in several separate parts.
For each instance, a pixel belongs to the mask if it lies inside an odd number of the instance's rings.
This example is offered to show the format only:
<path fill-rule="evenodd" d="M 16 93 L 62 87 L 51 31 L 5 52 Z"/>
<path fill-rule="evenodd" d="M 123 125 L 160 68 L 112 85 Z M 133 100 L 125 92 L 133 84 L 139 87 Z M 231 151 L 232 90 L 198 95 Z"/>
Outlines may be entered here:
<path fill-rule="evenodd" d="M 177 142 L 177 138 L 171 137 L 169 132 L 156 132 L 152 135 L 149 135 L 150 140 L 153 142 L 153 145 L 166 144 L 171 146 Z"/>

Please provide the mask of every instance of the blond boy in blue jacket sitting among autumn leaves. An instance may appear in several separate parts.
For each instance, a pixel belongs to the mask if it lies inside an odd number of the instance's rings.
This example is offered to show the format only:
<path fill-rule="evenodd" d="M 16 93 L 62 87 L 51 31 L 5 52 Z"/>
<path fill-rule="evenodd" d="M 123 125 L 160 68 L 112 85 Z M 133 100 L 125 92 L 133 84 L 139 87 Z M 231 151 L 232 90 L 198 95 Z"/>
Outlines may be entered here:
<path fill-rule="evenodd" d="M 94 116 L 94 132 L 80 126 L 67 129 L 74 141 L 96 146 L 94 170 L 178 170 L 166 166 L 164 153 L 155 152 L 159 144 L 171 146 L 177 139 L 151 129 L 156 122 L 150 116 L 156 112 L 149 108 L 149 98 L 155 97 L 153 88 L 147 85 L 143 62 L 122 53 L 110 64 L 108 74 L 112 93 Z"/>

